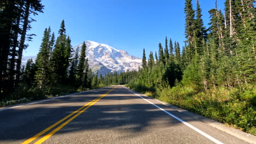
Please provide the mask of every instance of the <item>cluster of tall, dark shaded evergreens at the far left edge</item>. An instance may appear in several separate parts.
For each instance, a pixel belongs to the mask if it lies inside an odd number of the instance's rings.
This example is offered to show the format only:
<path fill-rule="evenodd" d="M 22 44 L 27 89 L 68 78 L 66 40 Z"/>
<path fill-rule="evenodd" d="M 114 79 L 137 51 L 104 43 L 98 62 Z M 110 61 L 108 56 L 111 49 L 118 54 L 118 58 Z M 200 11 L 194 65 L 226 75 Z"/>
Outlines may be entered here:
<path fill-rule="evenodd" d="M 30 15 L 43 12 L 43 7 L 39 0 L 0 2 L 0 99 L 9 96 L 20 82 L 25 39 L 31 39 L 26 32 L 34 21 Z"/>

